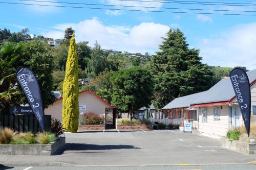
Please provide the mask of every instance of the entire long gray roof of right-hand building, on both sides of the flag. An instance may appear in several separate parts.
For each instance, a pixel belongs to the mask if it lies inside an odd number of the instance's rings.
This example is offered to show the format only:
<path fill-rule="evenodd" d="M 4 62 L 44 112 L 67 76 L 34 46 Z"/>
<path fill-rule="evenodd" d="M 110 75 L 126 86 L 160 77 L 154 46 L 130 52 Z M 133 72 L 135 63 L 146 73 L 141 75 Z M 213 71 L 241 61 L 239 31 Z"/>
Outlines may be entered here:
<path fill-rule="evenodd" d="M 246 72 L 249 82 L 256 79 L 256 69 Z M 176 98 L 163 109 L 189 107 L 191 104 L 229 101 L 234 96 L 230 79 L 222 79 L 209 90 Z"/>

